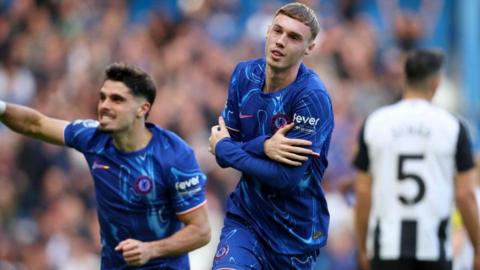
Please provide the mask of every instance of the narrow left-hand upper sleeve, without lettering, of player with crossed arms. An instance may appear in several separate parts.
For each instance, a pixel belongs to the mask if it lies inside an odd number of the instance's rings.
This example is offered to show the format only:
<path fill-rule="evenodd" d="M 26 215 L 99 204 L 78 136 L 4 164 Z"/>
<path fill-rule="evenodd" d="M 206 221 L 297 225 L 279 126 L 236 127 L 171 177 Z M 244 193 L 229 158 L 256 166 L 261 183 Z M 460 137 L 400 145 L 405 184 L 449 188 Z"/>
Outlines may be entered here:
<path fill-rule="evenodd" d="M 228 86 L 228 96 L 227 103 L 225 104 L 225 109 L 222 112 L 223 119 L 225 119 L 225 124 L 228 127 L 230 136 L 235 141 L 240 141 L 240 118 L 239 114 L 239 100 L 238 100 L 238 85 L 240 81 L 241 74 L 240 64 L 235 67 L 235 70 L 232 73 L 230 78 L 230 84 Z"/>

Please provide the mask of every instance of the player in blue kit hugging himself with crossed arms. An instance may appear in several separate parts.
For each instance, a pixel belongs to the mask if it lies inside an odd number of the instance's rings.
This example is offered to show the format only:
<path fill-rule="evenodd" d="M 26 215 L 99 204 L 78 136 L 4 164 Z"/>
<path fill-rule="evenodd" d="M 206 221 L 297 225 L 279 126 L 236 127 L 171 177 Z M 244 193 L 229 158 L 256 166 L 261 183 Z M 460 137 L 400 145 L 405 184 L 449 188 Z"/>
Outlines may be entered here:
<path fill-rule="evenodd" d="M 327 241 L 321 180 L 333 130 L 329 94 L 303 57 L 315 46 L 312 9 L 281 7 L 265 58 L 235 68 L 210 151 L 242 172 L 230 195 L 213 269 L 311 269 Z"/>

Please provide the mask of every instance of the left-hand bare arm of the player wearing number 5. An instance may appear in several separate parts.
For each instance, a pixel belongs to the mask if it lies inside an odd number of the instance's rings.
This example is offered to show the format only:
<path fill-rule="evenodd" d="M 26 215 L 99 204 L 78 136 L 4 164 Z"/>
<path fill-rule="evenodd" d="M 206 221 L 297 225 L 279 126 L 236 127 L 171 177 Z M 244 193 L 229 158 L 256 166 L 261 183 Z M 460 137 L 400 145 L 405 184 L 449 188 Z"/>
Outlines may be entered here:
<path fill-rule="evenodd" d="M 367 257 L 367 230 L 372 194 L 372 177 L 358 171 L 355 179 L 355 233 L 357 236 L 358 260 L 362 270 L 369 269 Z"/>

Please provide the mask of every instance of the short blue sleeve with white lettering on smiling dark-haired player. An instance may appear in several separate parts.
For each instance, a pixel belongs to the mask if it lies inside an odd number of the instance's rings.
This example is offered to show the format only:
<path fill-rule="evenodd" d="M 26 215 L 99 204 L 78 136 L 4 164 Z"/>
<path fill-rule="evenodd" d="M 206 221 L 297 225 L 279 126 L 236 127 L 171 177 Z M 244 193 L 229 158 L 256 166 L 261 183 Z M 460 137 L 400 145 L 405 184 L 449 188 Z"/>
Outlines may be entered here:
<path fill-rule="evenodd" d="M 173 207 L 179 215 L 191 212 L 206 202 L 205 184 L 207 177 L 198 166 L 195 154 L 190 148 L 176 158 L 170 168 L 170 189 Z"/>

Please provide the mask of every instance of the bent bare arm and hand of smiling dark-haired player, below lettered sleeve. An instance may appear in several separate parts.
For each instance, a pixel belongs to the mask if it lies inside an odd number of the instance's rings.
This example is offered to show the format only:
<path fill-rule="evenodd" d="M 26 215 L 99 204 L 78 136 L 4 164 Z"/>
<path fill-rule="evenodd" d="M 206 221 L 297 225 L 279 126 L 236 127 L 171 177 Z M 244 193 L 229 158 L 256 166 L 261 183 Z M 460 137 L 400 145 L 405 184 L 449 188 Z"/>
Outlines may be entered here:
<path fill-rule="evenodd" d="M 154 258 L 185 254 L 210 242 L 210 225 L 205 205 L 178 215 L 178 218 L 185 227 L 170 237 L 152 242 L 126 239 L 120 242 L 115 250 L 122 252 L 128 265 L 140 266 Z"/>

